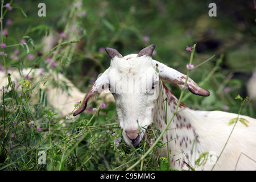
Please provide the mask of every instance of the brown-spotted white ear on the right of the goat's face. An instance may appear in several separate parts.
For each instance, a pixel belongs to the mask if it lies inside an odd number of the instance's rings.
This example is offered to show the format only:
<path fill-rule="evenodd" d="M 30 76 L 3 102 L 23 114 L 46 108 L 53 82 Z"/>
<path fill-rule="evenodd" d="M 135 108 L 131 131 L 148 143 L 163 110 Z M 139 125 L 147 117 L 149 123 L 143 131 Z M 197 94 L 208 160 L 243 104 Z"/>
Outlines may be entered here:
<path fill-rule="evenodd" d="M 183 73 L 180 73 L 180 72 L 176 71 L 175 69 L 167 67 L 163 63 L 159 63 L 158 61 L 155 61 L 155 60 L 152 60 L 152 64 L 154 67 L 156 67 L 156 64 L 158 65 L 159 76 L 160 76 L 161 80 L 171 82 L 174 85 L 184 85 L 187 76 L 184 75 Z M 199 96 L 209 96 L 210 95 L 208 90 L 201 88 L 191 78 L 188 78 L 187 86 L 188 86 L 188 90 L 193 94 L 196 94 Z"/>

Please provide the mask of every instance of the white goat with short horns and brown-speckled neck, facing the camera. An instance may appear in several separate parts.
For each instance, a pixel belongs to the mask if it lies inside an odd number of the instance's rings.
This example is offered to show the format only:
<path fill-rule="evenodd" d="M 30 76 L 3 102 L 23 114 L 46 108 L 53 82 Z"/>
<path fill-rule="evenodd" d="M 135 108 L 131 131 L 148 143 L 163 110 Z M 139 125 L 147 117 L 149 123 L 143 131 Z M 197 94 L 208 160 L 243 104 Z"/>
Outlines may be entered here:
<path fill-rule="evenodd" d="M 154 49 L 155 44 L 152 44 L 138 55 L 123 57 L 117 50 L 106 48 L 111 60 L 110 67 L 90 86 L 81 106 L 73 115 L 80 114 L 90 98 L 109 88 L 115 98 L 119 126 L 123 129 L 122 135 L 127 145 L 138 147 L 145 137 L 145 129 L 152 122 L 162 132 L 178 103 L 163 81 L 184 84 L 187 76 L 153 60 L 151 56 Z M 208 90 L 201 88 L 191 78 L 188 78 L 187 86 L 193 94 L 209 96 Z M 232 131 L 233 127 L 228 125 L 230 119 L 237 117 L 237 114 L 224 111 L 193 110 L 181 103 L 162 138 L 163 143 L 168 142 L 168 148 L 160 148 L 159 152 L 167 159 L 170 154 L 172 168 L 210 170 Z M 256 169 L 256 119 L 245 115 L 240 115 L 240 118 L 249 121 L 249 127 L 237 122 L 225 150 L 214 166 L 216 170 Z M 196 159 L 200 159 L 204 152 L 209 152 L 208 159 L 205 159 L 204 165 L 196 165 Z"/>

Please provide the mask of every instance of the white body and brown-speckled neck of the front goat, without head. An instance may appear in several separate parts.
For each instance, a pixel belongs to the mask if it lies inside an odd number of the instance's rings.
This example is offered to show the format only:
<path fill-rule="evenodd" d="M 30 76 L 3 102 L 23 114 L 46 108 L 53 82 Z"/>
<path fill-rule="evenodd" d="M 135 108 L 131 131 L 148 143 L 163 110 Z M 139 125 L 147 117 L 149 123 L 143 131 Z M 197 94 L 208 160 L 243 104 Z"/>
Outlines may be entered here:
<path fill-rule="evenodd" d="M 167 101 L 163 102 L 163 99 Z M 159 92 L 158 102 L 154 109 L 154 122 L 160 131 L 166 127 L 177 105 L 177 98 L 163 84 L 163 95 Z M 167 118 L 165 116 L 165 110 Z M 168 159 L 170 166 L 176 169 L 204 169 L 210 170 L 225 146 L 233 125 L 228 126 L 230 119 L 237 118 L 237 114 L 223 111 L 199 111 L 189 109 L 181 104 L 164 134 L 163 143 L 166 147 L 160 154 Z M 256 119 L 240 115 L 248 123 L 248 127 L 240 121 L 237 122 L 233 133 L 226 145 L 214 170 L 255 170 L 256 169 Z M 167 148 L 168 141 L 168 148 Z M 201 160 L 201 165 L 196 165 L 204 152 L 209 152 L 207 160 Z"/>

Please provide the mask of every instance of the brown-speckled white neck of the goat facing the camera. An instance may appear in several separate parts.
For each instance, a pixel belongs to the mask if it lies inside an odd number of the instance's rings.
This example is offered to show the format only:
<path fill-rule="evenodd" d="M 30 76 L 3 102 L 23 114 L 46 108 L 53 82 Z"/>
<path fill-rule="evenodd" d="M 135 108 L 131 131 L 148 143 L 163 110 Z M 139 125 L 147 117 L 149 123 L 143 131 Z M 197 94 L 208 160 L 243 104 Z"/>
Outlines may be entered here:
<path fill-rule="evenodd" d="M 161 84 L 162 90 L 159 90 L 159 97 L 155 102 L 154 122 L 156 127 L 163 131 L 174 114 L 178 100 L 163 82 Z M 202 152 L 198 147 L 193 147 L 195 144 L 198 146 L 200 141 L 196 130 L 198 123 L 193 122 L 191 112 L 196 111 L 180 103 L 171 125 L 163 135 L 162 141 L 166 146 L 168 141 L 168 148 L 162 148 L 160 152 L 164 156 L 168 156 L 169 152 L 172 167 L 183 168 L 192 157 L 195 158 L 195 155 Z M 176 162 L 178 159 L 181 160 Z"/>

